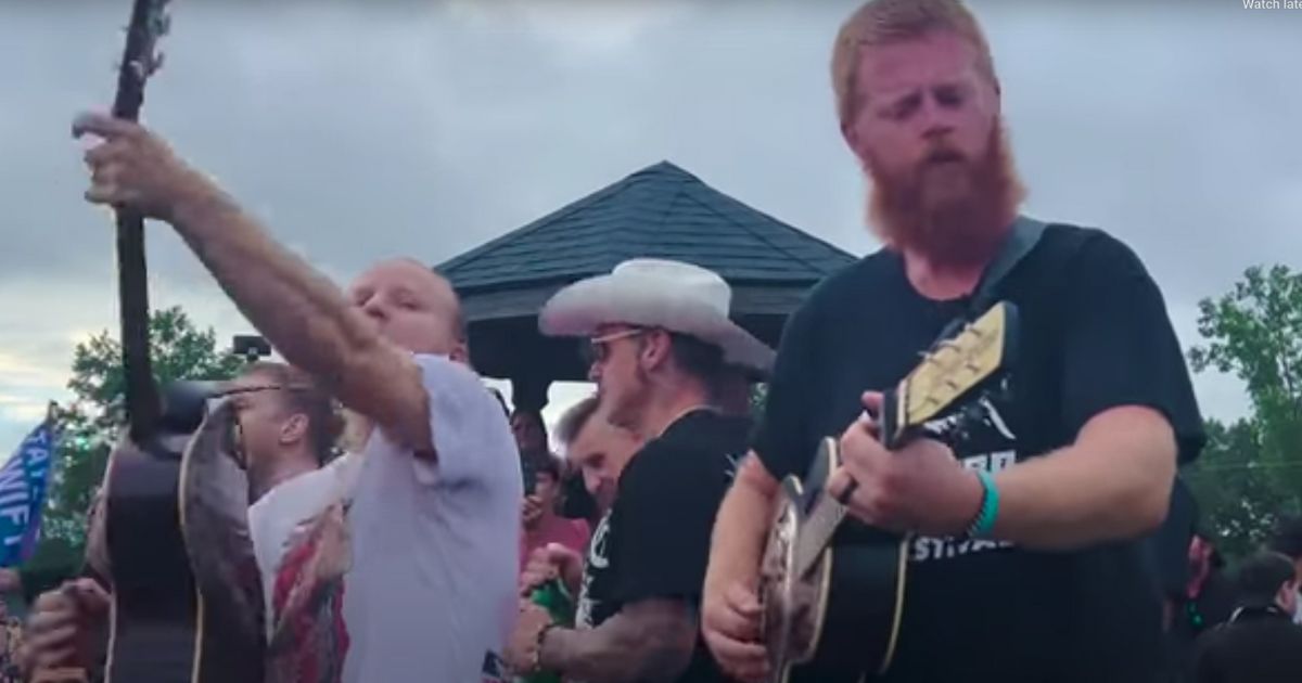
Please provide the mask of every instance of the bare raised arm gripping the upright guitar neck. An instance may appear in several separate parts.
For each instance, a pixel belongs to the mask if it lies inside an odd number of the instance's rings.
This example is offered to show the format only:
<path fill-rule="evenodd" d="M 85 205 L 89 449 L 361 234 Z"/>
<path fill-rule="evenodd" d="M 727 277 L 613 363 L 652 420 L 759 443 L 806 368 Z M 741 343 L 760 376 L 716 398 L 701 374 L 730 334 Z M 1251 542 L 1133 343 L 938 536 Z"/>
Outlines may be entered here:
<path fill-rule="evenodd" d="M 410 355 L 385 341 L 337 286 L 281 247 L 211 180 L 143 127 L 83 114 L 86 199 L 171 222 L 250 323 L 348 407 L 418 451 L 432 451 L 427 395 Z"/>

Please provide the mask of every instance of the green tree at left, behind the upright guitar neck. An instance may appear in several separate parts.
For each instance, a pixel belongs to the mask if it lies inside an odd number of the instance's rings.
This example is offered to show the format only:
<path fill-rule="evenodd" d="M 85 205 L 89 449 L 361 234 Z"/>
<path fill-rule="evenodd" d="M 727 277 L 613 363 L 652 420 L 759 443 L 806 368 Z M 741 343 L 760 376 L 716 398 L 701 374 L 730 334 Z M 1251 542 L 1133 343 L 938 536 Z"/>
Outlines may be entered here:
<path fill-rule="evenodd" d="M 180 307 L 151 314 L 150 359 L 160 386 L 182 379 L 229 379 L 243 364 L 242 356 L 219 350 L 212 328 L 197 328 Z M 77 398 L 61 415 L 62 438 L 42 527 L 51 542 L 79 550 L 85 541 L 86 510 L 125 423 L 124 386 L 122 347 L 115 336 L 100 332 L 77 345 L 68 381 Z"/>

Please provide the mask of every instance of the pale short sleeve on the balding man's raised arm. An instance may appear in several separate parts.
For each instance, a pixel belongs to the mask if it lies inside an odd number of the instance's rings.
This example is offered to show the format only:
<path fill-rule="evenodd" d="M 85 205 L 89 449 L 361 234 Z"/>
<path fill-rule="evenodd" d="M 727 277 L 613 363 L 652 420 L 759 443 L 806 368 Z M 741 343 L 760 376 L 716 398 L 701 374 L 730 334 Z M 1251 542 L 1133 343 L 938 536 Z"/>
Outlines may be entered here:
<path fill-rule="evenodd" d="M 422 484 L 483 480 L 513 458 L 516 441 L 501 405 L 462 363 L 439 355 L 417 355 L 430 401 L 435 463 L 417 461 Z M 518 457 L 516 457 L 518 459 Z"/>

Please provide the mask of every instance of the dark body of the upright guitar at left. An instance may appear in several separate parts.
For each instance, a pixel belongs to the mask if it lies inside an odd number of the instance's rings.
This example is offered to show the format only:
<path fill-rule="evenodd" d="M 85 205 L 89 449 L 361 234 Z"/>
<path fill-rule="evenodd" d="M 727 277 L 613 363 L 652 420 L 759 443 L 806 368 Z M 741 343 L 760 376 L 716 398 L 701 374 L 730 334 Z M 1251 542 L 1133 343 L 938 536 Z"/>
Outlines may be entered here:
<path fill-rule="evenodd" d="M 262 680 L 262 584 L 232 419 L 224 405 L 193 437 L 160 436 L 151 450 L 124 440 L 111 457 L 105 682 Z"/>

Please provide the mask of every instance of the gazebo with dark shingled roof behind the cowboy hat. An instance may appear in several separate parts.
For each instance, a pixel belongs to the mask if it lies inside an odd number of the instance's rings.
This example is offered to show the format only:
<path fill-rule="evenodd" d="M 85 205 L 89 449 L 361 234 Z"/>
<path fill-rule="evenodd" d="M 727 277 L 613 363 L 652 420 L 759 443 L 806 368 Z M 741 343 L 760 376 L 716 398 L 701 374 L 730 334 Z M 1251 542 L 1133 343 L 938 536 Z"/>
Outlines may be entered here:
<path fill-rule="evenodd" d="M 637 256 L 715 271 L 733 289 L 733 319 L 775 347 L 805 293 L 855 260 L 661 161 L 435 269 L 461 297 L 475 368 L 510 380 L 518 408 L 540 411 L 551 382 L 582 381 L 587 368 L 578 340 L 538 332 L 538 311 Z"/>

